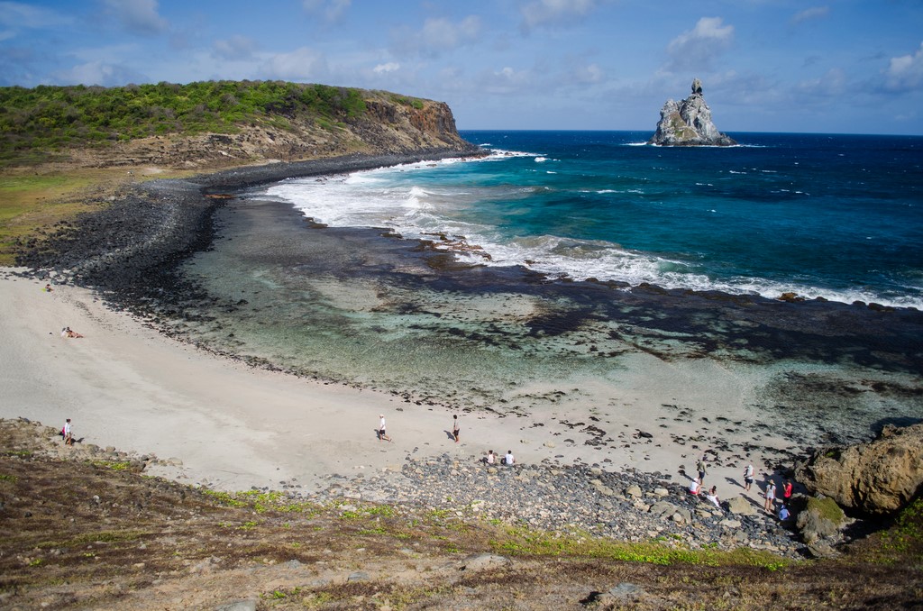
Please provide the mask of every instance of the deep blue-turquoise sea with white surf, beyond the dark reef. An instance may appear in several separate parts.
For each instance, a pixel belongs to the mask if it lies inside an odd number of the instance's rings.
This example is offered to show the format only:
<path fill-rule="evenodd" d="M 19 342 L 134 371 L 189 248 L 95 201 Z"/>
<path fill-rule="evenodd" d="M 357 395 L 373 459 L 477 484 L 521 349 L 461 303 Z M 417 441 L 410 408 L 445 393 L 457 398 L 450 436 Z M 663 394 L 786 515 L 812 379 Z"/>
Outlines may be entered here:
<path fill-rule="evenodd" d="M 330 226 L 445 234 L 481 249 L 462 257 L 552 278 L 923 308 L 923 138 L 732 136 L 463 131 L 491 155 L 267 193 Z"/>

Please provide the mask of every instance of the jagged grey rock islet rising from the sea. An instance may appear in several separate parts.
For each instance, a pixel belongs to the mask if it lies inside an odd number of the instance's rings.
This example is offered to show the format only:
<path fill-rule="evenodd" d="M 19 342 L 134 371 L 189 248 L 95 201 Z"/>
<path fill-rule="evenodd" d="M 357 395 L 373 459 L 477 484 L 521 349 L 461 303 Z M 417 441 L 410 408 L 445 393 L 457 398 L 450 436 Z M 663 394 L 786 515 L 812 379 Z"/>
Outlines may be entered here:
<path fill-rule="evenodd" d="M 701 81 L 692 80 L 692 93 L 682 102 L 667 100 L 660 109 L 657 131 L 649 144 L 670 147 L 719 146 L 737 144 L 734 138 L 718 131 L 712 123 L 712 109 L 701 95 Z"/>

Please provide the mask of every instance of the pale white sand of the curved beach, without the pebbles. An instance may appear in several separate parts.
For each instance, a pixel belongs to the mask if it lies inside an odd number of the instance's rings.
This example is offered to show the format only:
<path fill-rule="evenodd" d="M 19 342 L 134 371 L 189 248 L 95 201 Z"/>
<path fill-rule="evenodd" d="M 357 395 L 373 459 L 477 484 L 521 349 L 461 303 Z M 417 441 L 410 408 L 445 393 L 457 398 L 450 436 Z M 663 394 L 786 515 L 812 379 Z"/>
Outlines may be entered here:
<path fill-rule="evenodd" d="M 58 427 L 70 417 L 84 443 L 179 459 L 182 469 L 153 473 L 218 489 L 285 482 L 313 490 L 331 473 L 396 471 L 411 455 L 448 452 L 467 460 L 487 449 L 512 449 L 520 463 L 583 461 L 612 471 L 632 466 L 685 482 L 680 465 L 691 472 L 708 446 L 678 446 L 671 434 L 694 434 L 701 415 L 748 416 L 739 407 L 747 389 L 720 365 L 664 365 L 640 355 L 638 366 L 614 378 L 624 388 L 614 389 L 612 380 L 598 382 L 598 389 L 587 382 L 584 390 L 598 401 L 586 401 L 584 393 L 531 417 L 462 413 L 462 442 L 456 444 L 445 408 L 251 369 L 163 337 L 106 309 L 87 290 L 55 286 L 46 293 L 44 282 L 8 271 L 0 270 L 0 417 Z M 65 326 L 85 337 L 63 339 Z M 675 402 L 693 406 L 692 422 L 677 423 L 676 410 L 662 407 Z M 379 413 L 387 417 L 392 443 L 375 435 Z M 562 420 L 599 426 L 618 443 L 587 446 L 585 426 L 570 428 Z M 638 430 L 653 438 L 636 437 Z M 750 458 L 760 473 L 762 457 Z M 739 493 L 728 480 L 741 479 L 743 464 L 713 468 L 706 483 L 717 484 L 724 497 Z"/>

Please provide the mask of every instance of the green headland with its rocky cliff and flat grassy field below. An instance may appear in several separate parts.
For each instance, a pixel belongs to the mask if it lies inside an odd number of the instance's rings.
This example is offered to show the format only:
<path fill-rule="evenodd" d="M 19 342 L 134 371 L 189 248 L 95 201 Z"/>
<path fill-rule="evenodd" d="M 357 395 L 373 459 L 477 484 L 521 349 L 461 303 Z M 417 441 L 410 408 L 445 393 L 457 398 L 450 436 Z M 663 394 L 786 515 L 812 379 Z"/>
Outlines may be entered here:
<path fill-rule="evenodd" d="M 444 102 L 282 81 L 0 88 L 0 130 L 0 265 L 155 177 L 476 150 Z"/>

